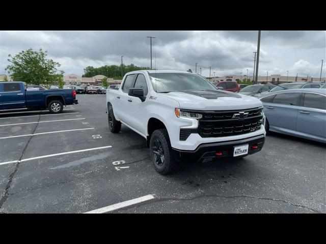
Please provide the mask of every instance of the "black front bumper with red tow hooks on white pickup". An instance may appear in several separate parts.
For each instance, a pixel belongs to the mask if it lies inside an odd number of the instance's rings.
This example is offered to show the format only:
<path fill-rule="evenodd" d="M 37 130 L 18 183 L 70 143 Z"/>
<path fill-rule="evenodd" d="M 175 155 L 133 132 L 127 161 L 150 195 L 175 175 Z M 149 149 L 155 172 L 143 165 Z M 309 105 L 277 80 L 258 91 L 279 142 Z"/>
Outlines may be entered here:
<path fill-rule="evenodd" d="M 178 159 L 207 162 L 219 158 L 241 158 L 241 156 L 233 157 L 233 150 L 234 146 L 240 146 L 243 144 L 249 144 L 248 155 L 255 154 L 262 149 L 264 142 L 265 135 L 261 134 L 259 136 L 240 140 L 203 143 L 200 144 L 195 150 L 180 150 L 173 148 L 173 151 L 175 157 Z M 216 153 L 218 153 L 219 156 L 216 155 Z"/>

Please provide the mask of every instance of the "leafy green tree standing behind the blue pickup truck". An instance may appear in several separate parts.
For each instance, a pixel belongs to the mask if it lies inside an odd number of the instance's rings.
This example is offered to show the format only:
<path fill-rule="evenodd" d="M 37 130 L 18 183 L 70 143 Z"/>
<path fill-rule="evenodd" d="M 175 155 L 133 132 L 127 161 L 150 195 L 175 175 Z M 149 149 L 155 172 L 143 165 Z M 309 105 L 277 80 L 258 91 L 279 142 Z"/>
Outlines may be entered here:
<path fill-rule="evenodd" d="M 8 65 L 6 70 L 9 71 L 13 80 L 23 81 L 27 84 L 45 84 L 52 83 L 58 78 L 58 68 L 61 66 L 52 59 L 47 59 L 47 51 L 42 48 L 34 51 L 32 48 L 21 51 L 17 55 L 9 54 Z M 63 74 L 63 71 L 59 71 Z"/>

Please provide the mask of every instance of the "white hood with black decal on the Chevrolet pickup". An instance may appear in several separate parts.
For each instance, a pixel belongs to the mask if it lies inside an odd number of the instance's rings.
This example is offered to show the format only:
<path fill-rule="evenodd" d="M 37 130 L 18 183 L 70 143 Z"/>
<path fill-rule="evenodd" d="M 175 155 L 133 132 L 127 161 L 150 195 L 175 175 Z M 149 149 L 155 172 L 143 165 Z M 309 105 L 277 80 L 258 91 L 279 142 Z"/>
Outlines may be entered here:
<path fill-rule="evenodd" d="M 238 110 L 262 106 L 257 98 L 223 90 L 192 90 L 159 93 L 159 95 L 176 100 L 183 109 Z"/>

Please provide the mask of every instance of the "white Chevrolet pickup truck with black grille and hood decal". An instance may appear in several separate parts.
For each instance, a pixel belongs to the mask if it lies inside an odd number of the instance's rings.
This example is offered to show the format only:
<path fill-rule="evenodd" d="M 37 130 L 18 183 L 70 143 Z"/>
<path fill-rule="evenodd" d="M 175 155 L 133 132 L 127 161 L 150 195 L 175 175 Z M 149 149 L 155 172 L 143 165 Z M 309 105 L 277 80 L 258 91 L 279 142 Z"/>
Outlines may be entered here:
<path fill-rule="evenodd" d="M 108 126 L 121 124 L 147 140 L 155 169 L 175 170 L 178 160 L 245 157 L 265 140 L 262 103 L 216 89 L 198 74 L 143 70 L 125 74 L 119 89 L 107 89 Z"/>

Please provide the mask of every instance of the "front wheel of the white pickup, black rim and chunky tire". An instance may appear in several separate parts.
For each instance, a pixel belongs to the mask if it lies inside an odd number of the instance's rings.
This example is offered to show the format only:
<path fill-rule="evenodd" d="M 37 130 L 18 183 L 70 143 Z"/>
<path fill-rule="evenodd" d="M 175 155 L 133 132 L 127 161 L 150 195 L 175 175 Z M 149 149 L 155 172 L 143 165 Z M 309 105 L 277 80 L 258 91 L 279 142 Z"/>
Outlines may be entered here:
<path fill-rule="evenodd" d="M 176 170 L 176 162 L 166 129 L 159 129 L 152 133 L 149 149 L 151 160 L 158 173 L 166 175 Z"/>

